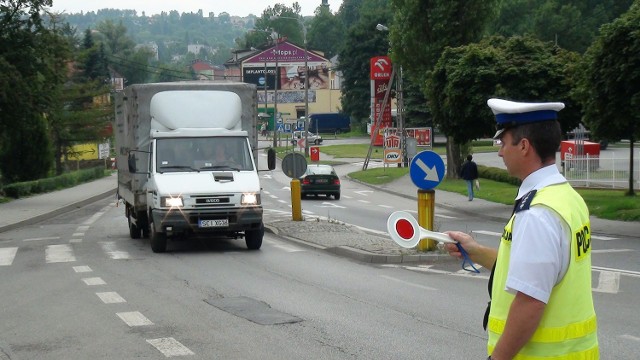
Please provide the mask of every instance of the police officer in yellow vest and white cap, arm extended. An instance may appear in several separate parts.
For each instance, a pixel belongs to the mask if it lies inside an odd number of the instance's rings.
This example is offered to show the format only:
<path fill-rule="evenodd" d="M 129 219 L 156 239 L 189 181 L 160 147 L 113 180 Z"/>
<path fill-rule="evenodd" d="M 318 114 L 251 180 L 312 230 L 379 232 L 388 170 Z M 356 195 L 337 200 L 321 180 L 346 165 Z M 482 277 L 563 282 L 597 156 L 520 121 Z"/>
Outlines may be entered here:
<path fill-rule="evenodd" d="M 560 174 L 563 103 L 490 99 L 498 156 L 522 180 L 498 249 L 447 232 L 471 260 L 492 269 L 483 326 L 488 359 L 599 359 L 591 293 L 591 225 L 582 197 Z M 455 244 L 451 256 L 462 258 Z"/>

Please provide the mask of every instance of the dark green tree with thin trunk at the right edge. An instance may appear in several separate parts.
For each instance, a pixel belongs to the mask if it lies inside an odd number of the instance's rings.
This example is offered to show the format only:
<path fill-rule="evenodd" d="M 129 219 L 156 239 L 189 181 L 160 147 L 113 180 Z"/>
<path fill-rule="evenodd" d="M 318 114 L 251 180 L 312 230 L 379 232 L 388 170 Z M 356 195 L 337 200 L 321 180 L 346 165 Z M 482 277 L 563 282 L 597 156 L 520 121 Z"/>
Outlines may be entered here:
<path fill-rule="evenodd" d="M 610 140 L 629 139 L 629 189 L 633 190 L 633 143 L 640 138 L 640 2 L 610 24 L 584 57 L 576 96 L 592 133 Z"/>

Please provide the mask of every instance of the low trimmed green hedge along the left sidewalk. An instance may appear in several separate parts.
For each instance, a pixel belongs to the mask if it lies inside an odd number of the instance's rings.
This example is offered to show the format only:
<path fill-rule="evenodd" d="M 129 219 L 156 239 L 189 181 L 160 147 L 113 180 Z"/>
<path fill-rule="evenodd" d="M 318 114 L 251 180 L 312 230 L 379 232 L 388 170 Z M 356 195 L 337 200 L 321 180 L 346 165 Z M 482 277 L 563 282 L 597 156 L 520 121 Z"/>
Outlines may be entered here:
<path fill-rule="evenodd" d="M 109 171 L 104 169 L 104 166 L 99 166 L 55 177 L 9 184 L 2 187 L 1 192 L 3 192 L 7 197 L 19 199 L 29 195 L 42 194 L 76 186 L 78 184 L 102 178 L 107 176 L 109 173 Z"/>

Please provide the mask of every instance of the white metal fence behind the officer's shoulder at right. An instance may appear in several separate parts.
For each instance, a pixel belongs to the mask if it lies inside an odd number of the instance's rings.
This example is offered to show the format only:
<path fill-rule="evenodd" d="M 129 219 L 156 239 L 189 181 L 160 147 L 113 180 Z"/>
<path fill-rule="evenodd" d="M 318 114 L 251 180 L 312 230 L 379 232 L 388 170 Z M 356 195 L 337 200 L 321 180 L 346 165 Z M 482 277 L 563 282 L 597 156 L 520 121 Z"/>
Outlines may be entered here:
<path fill-rule="evenodd" d="M 564 176 L 572 186 L 628 189 L 629 161 L 629 157 L 616 157 L 615 153 L 565 158 Z M 640 152 L 634 154 L 633 161 L 633 188 L 640 190 Z"/>

